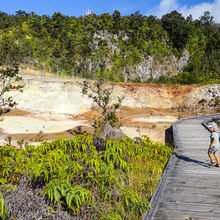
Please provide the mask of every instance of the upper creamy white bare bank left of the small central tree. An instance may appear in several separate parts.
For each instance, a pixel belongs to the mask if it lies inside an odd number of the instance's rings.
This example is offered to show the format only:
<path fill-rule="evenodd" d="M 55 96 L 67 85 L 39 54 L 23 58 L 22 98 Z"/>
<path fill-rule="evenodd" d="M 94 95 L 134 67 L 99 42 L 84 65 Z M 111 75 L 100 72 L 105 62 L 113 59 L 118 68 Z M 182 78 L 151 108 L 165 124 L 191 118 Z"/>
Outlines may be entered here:
<path fill-rule="evenodd" d="M 88 111 L 92 102 L 81 94 L 75 81 L 49 77 L 23 76 L 23 93 L 11 92 L 19 109 L 32 113 L 47 113 L 55 118 L 68 118 Z"/>

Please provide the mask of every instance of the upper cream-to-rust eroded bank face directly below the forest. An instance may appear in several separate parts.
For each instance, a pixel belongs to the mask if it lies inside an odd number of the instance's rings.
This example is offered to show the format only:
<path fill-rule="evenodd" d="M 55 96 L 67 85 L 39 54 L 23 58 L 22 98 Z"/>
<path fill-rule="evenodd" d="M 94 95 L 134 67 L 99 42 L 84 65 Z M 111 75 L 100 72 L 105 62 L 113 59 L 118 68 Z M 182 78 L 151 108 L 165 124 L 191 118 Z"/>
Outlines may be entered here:
<path fill-rule="evenodd" d="M 31 113 L 46 114 L 55 120 L 63 120 L 84 113 L 93 103 L 81 94 L 77 79 L 60 79 L 24 75 L 24 91 L 10 93 L 18 103 L 17 108 Z M 188 88 L 188 86 L 181 86 Z M 171 108 L 179 105 L 198 104 L 201 99 L 210 101 L 220 97 L 220 85 L 192 86 L 175 94 L 175 87 L 154 85 L 116 84 L 113 102 L 125 94 L 122 106 L 136 108 Z M 185 92 L 184 92 L 185 91 Z M 178 92 L 178 90 L 177 90 Z M 183 94 L 184 93 L 184 94 Z M 114 98 L 115 97 L 115 98 Z"/>

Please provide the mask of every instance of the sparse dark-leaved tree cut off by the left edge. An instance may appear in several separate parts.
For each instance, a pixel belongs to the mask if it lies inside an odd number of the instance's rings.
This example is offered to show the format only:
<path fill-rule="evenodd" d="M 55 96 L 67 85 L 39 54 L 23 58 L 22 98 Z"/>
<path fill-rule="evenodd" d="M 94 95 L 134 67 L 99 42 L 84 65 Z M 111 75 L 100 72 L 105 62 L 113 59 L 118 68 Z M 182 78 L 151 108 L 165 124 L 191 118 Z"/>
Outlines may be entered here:
<path fill-rule="evenodd" d="M 7 93 L 11 90 L 22 91 L 22 87 L 18 85 L 21 80 L 17 65 L 0 67 L 0 115 L 17 104 L 12 96 L 7 96 Z"/>

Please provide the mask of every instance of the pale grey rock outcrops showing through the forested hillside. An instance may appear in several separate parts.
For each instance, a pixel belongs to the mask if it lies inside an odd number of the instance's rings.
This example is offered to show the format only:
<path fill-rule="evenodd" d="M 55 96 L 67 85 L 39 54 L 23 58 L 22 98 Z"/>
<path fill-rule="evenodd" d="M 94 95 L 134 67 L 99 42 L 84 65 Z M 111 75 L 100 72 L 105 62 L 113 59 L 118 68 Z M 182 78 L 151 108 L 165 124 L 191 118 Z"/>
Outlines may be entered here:
<path fill-rule="evenodd" d="M 122 40 L 126 41 L 129 37 L 123 33 L 119 33 L 118 35 L 111 35 L 106 30 L 100 31 L 99 33 L 94 34 L 93 43 L 96 45 L 96 49 L 98 48 L 99 40 L 105 40 L 107 42 L 107 47 L 109 51 L 114 54 L 120 53 L 120 48 L 118 46 L 118 39 L 122 37 Z M 185 49 L 183 50 L 182 56 L 180 58 L 172 55 L 168 55 L 167 57 L 163 57 L 161 61 L 159 61 L 155 55 L 149 56 L 148 58 L 142 58 L 142 61 L 134 68 L 132 66 L 126 66 L 123 70 L 123 75 L 125 78 L 125 82 L 128 80 L 137 80 L 139 79 L 141 82 L 146 82 L 148 79 L 158 79 L 162 75 L 170 74 L 177 75 L 182 71 L 184 66 L 186 66 L 189 62 L 190 54 Z M 88 60 L 89 66 L 91 66 L 91 61 Z M 106 58 L 106 67 L 111 69 L 112 62 L 109 58 Z M 90 68 L 91 69 L 91 68 Z"/>

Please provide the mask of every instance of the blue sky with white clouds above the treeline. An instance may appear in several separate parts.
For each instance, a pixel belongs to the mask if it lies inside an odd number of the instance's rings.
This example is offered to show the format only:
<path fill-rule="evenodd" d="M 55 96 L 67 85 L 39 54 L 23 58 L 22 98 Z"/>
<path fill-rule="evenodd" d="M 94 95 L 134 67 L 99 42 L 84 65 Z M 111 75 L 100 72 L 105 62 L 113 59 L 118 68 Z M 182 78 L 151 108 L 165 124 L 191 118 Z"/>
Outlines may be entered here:
<path fill-rule="evenodd" d="M 84 16 L 88 8 L 100 15 L 114 10 L 121 15 L 129 15 L 140 11 L 142 15 L 154 15 L 160 18 L 173 10 L 183 16 L 192 15 L 199 18 L 203 12 L 210 11 L 215 22 L 220 23 L 220 0 L 0 0 L 0 11 L 15 14 L 18 10 L 38 15 L 52 16 L 61 12 L 69 16 Z"/>

